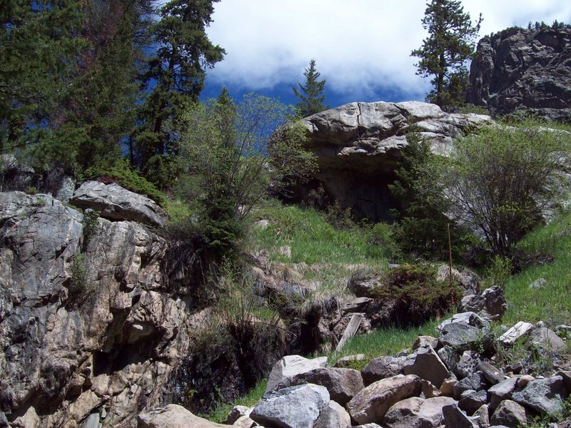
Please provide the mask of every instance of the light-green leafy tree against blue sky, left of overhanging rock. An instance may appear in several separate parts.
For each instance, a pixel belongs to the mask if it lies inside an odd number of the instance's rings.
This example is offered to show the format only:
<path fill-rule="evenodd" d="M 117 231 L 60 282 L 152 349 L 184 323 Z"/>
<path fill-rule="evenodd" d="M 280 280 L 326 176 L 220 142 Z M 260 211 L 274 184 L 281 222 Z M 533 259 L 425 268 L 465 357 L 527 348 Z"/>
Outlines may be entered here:
<path fill-rule="evenodd" d="M 287 123 L 288 112 L 272 98 L 250 94 L 234 103 L 223 91 L 184 116 L 181 191 L 187 200 L 198 200 L 208 246 L 218 258 L 236 250 L 243 220 L 270 186 L 279 193 L 288 180 L 303 179 L 315 168 L 313 155 L 302 147 L 303 128 Z M 276 128 L 281 131 L 271 139 Z"/>

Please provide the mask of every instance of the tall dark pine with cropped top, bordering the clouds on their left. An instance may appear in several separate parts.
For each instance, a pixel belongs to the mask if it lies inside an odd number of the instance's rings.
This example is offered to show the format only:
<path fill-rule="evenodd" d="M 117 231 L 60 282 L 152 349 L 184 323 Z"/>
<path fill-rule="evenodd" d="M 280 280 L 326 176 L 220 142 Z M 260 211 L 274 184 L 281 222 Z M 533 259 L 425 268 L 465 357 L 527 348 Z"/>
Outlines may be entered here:
<path fill-rule="evenodd" d="M 165 124 L 198 101 L 205 69 L 212 68 L 225 54 L 206 36 L 217 1 L 171 0 L 161 8 L 161 19 L 151 29 L 158 49 L 142 76 L 150 93 L 136 136 L 138 163 L 150 178 L 157 172 L 153 157 L 161 163 L 156 156 L 169 153 L 172 136 Z"/>

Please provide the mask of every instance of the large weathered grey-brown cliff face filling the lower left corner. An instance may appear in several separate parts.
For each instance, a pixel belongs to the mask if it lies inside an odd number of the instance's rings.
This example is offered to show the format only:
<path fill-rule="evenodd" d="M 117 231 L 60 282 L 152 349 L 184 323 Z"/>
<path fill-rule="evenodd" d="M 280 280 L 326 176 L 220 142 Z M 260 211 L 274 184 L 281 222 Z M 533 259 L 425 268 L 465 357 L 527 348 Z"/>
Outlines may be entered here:
<path fill-rule="evenodd" d="M 84 242 L 83 220 L 49 195 L 0 193 L 0 410 L 14 426 L 103 409 L 126 426 L 188 347 L 190 311 L 161 272 L 166 242 L 102 218 Z"/>

